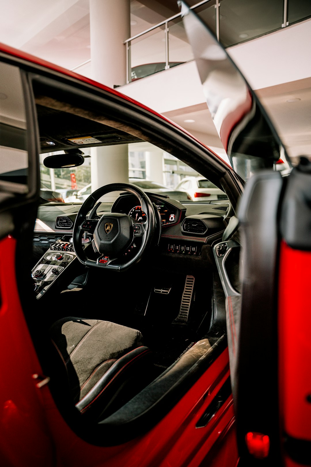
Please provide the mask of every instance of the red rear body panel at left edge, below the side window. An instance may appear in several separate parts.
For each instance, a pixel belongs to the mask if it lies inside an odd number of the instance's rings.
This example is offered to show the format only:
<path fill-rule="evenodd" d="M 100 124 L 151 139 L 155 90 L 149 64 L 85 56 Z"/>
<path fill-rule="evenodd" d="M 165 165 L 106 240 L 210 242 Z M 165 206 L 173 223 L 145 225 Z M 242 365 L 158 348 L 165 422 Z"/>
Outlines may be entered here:
<path fill-rule="evenodd" d="M 52 466 L 53 445 L 33 375 L 42 375 L 15 280 L 16 240 L 0 241 L 1 466 Z"/>

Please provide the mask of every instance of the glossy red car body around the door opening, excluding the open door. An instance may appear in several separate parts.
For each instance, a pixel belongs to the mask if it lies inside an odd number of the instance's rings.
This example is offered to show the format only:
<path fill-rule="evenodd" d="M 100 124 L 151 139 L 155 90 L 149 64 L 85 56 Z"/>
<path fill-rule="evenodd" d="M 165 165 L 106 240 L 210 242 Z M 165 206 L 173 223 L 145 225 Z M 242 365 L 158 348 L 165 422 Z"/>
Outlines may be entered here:
<path fill-rule="evenodd" d="M 53 77 L 69 78 L 92 89 L 104 90 L 113 98 L 123 99 L 156 115 L 161 121 L 182 128 L 162 115 L 133 101 L 116 90 L 79 76 L 20 50 L 0 45 L 1 60 L 28 71 L 49 71 Z M 35 65 L 35 68 L 33 68 Z M 202 148 L 200 142 L 196 141 Z M 211 151 L 210 151 L 211 153 Z M 216 155 L 214 155 L 217 158 Z M 222 161 L 221 161 L 222 163 Z M 222 163 L 226 170 L 232 169 Z M 35 191 L 38 192 L 38 186 Z M 24 200 L 24 212 L 36 209 L 36 197 Z M 62 418 L 51 396 L 48 377 L 43 375 L 35 347 L 25 320 L 17 284 L 19 254 L 10 218 L 2 207 L 2 225 L 10 234 L 0 240 L 0 458 L 2 466 L 199 466 L 235 467 L 238 454 L 232 396 L 203 428 L 196 423 L 208 409 L 222 384 L 228 379 L 228 350 L 211 363 L 180 401 L 153 428 L 118 446 L 94 446 L 73 432 Z M 6 223 L 7 222 L 7 223 Z M 25 252 L 27 255 L 28 253 Z M 29 252 L 30 255 L 30 252 Z M 30 312 L 31 310 L 26 310 Z M 8 351 L 8 349 L 10 349 Z"/>

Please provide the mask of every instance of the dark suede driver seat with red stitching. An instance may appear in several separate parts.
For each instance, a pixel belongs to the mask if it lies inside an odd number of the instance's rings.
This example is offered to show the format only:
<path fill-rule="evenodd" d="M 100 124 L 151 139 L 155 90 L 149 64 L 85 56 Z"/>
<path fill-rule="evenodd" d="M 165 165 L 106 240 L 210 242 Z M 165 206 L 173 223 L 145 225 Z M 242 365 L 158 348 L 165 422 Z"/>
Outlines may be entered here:
<path fill-rule="evenodd" d="M 151 351 L 138 330 L 67 317 L 52 325 L 50 337 L 66 368 L 70 398 L 83 418 L 102 419 L 142 389 Z"/>

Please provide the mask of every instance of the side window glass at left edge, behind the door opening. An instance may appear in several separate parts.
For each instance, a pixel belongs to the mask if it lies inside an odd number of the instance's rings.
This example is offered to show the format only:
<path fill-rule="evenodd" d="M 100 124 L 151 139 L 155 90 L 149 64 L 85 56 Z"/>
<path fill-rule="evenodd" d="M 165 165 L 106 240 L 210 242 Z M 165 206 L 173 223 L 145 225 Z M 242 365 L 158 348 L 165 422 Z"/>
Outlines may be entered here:
<path fill-rule="evenodd" d="M 22 191 L 28 191 L 26 114 L 21 74 L 18 67 L 4 63 L 0 63 L 0 180 L 23 184 Z"/>

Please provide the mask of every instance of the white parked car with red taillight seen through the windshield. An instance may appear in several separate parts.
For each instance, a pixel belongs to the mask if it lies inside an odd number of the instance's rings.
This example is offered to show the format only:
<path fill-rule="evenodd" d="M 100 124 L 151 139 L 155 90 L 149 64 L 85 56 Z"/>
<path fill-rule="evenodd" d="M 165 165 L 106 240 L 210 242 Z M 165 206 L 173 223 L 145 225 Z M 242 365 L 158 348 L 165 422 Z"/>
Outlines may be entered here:
<path fill-rule="evenodd" d="M 204 177 L 185 177 L 175 190 L 186 191 L 192 201 L 228 199 L 226 193 Z"/>

